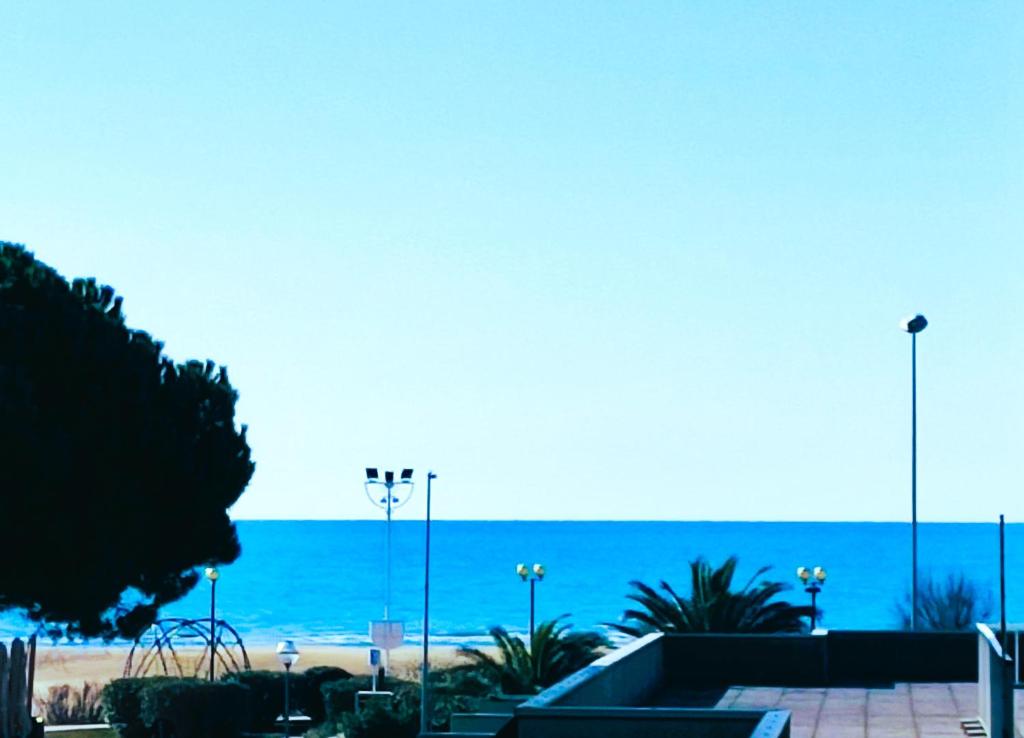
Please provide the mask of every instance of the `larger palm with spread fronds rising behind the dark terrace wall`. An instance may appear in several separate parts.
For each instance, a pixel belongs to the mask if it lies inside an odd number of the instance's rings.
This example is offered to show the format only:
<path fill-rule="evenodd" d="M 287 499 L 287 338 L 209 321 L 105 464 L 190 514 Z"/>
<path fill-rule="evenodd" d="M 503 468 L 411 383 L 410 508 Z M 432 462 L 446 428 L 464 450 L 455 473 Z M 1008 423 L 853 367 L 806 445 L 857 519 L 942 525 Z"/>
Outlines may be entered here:
<path fill-rule="evenodd" d="M 765 566 L 750 581 L 733 592 L 732 577 L 738 559 L 730 556 L 718 569 L 698 557 L 690 562 L 691 590 L 681 597 L 669 582 L 663 580 L 665 594 L 642 581 L 631 581 L 636 592 L 627 598 L 643 609 L 628 609 L 623 622 L 607 623 L 620 633 L 642 636 L 664 633 L 803 633 L 804 617 L 809 606 L 794 605 L 783 600 L 772 601 L 788 590 L 780 581 L 758 581 L 771 567 Z"/>

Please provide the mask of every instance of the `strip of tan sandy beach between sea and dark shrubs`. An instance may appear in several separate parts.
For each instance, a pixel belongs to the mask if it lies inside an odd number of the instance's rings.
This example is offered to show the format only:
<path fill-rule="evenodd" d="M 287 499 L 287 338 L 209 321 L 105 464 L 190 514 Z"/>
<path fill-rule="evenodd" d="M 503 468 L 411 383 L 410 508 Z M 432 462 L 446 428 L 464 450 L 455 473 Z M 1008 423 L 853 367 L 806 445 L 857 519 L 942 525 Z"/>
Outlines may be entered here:
<path fill-rule="evenodd" d="M 296 670 L 310 666 L 341 666 L 352 674 L 369 674 L 367 649 L 343 646 L 310 646 L 302 648 Z M 105 684 L 124 676 L 127 647 L 47 647 L 40 646 L 36 659 L 35 692 L 43 696 L 52 686 L 80 687 L 85 682 Z M 281 669 L 271 646 L 254 646 L 248 649 L 254 669 Z M 423 655 L 419 646 L 403 646 L 391 652 L 392 670 L 398 677 L 413 678 L 418 674 Z M 459 661 L 454 646 L 430 649 L 430 663 L 444 666 Z"/>

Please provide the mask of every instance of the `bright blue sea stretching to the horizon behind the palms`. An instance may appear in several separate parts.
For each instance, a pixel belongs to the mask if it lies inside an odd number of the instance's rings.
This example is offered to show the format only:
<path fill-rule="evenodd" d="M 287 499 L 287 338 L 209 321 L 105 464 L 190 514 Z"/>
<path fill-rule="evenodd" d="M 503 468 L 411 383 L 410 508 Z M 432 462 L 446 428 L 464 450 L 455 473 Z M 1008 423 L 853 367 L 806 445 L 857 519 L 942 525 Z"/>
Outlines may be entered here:
<path fill-rule="evenodd" d="M 300 643 L 368 643 L 368 621 L 384 602 L 383 521 L 243 521 L 242 557 L 222 567 L 218 615 L 247 644 L 288 637 Z M 391 618 L 407 621 L 409 641 L 423 623 L 424 528 L 392 523 Z M 435 521 L 431 553 L 431 640 L 486 641 L 496 624 L 528 627 L 528 585 L 518 562 L 543 563 L 538 619 L 564 613 L 578 627 L 601 628 L 629 605 L 629 581 L 666 579 L 688 590 L 688 562 L 739 557 L 737 582 L 760 567 L 796 584 L 797 566 L 828 572 L 819 604 L 822 626 L 887 628 L 895 603 L 909 588 L 910 526 L 901 523 L 756 522 L 489 522 Z M 998 617 L 998 528 L 990 524 L 929 523 L 920 527 L 923 572 L 964 571 L 991 595 Z M 1007 526 L 1008 615 L 1024 620 L 1024 525 Z M 201 581 L 165 615 L 203 617 L 209 582 Z M 787 593 L 807 599 L 800 589 Z M 13 623 L 6 618 L 5 631 Z M 24 630 L 22 631 L 24 633 Z"/>

